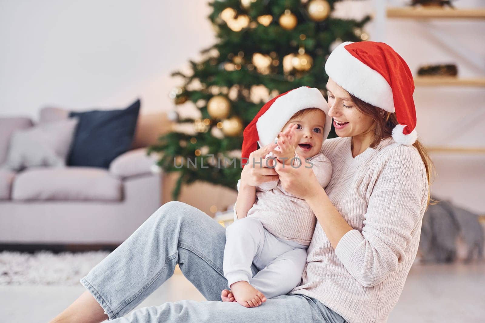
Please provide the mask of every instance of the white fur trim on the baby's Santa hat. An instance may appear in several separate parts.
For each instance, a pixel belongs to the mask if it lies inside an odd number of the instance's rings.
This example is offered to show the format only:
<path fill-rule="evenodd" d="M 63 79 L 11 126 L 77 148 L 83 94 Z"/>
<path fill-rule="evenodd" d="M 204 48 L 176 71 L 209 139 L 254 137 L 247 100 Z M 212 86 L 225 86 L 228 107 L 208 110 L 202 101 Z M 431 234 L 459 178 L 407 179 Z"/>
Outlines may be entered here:
<path fill-rule="evenodd" d="M 256 122 L 259 147 L 273 142 L 293 114 L 307 108 L 319 108 L 325 112 L 323 128 L 323 140 L 325 140 L 332 127 L 332 118 L 328 116 L 328 104 L 320 90 L 302 86 L 277 98 L 259 117 Z"/>

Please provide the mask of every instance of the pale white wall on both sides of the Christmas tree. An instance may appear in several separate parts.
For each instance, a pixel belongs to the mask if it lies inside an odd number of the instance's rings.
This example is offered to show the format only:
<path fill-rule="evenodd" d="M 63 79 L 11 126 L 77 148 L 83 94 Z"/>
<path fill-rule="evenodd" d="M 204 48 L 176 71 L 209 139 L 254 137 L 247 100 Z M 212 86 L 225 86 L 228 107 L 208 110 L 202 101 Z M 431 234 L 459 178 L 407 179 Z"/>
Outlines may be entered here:
<path fill-rule="evenodd" d="M 454 3 L 484 6 L 483 0 Z M 371 11 L 370 0 L 346 0 L 336 14 Z M 143 99 L 144 113 L 171 109 L 168 92 L 178 80 L 170 72 L 215 41 L 209 14 L 206 1 L 193 0 L 0 1 L 0 114 L 36 118 L 45 105 L 124 107 L 136 96 Z M 484 20 L 434 24 L 485 64 Z M 462 77 L 485 75 L 444 50 L 413 20 L 389 20 L 385 37 L 413 72 L 421 64 L 455 62 Z M 425 144 L 483 147 L 484 88 L 417 87 L 414 97 Z M 433 155 L 434 192 L 485 213 L 484 157 Z"/>

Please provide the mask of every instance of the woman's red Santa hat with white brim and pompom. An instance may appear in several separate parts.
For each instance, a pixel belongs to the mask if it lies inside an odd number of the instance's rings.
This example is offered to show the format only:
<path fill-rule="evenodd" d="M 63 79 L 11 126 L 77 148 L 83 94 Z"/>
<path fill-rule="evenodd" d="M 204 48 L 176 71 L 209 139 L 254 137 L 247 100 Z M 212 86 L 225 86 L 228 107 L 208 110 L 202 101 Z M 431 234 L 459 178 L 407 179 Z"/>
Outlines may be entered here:
<path fill-rule="evenodd" d="M 392 130 L 396 142 L 411 146 L 416 141 L 413 76 L 394 49 L 385 43 L 345 42 L 332 51 L 325 72 L 362 101 L 396 112 L 399 124 Z"/>

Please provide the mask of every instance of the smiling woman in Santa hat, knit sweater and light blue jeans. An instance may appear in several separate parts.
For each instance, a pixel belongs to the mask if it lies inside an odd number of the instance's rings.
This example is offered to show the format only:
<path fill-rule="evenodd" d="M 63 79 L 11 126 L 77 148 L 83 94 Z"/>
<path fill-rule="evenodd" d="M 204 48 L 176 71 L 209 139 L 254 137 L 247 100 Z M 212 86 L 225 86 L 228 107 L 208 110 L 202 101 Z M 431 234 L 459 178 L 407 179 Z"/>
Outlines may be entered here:
<path fill-rule="evenodd" d="M 250 154 L 239 187 L 255 190 L 279 178 L 315 213 L 300 286 L 255 308 L 220 302 L 227 288 L 224 228 L 194 207 L 169 202 L 81 279 L 88 291 L 53 322 L 385 322 L 416 257 L 429 203 L 432 164 L 416 140 L 413 79 L 392 48 L 374 42 L 341 44 L 325 70 L 328 114 L 339 136 L 322 147 L 332 163 L 330 184 L 324 190 L 304 167 L 259 167 L 272 148 L 262 147 Z M 169 302 L 123 318 L 177 263 L 208 301 Z"/>

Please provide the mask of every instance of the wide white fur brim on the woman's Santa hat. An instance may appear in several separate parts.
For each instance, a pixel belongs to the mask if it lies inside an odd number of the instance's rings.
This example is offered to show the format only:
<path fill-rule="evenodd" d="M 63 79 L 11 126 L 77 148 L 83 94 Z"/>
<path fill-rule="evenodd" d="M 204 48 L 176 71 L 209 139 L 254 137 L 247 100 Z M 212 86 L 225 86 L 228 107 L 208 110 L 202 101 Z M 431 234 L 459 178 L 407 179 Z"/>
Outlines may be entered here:
<path fill-rule="evenodd" d="M 388 81 L 345 49 L 346 45 L 352 43 L 342 43 L 332 51 L 325 62 L 325 73 L 364 102 L 388 112 L 395 112 L 392 89 Z"/>

